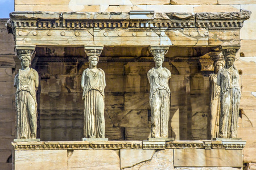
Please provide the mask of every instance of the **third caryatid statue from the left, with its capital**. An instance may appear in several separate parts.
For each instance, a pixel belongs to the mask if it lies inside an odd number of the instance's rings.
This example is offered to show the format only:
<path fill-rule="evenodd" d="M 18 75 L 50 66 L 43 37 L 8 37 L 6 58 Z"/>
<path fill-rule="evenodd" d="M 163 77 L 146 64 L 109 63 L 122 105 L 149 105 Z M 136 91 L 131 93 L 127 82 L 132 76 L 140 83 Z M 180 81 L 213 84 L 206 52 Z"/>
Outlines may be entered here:
<path fill-rule="evenodd" d="M 168 80 L 171 72 L 162 67 L 168 49 L 169 46 L 150 46 L 155 61 L 155 67 L 147 73 L 150 83 L 151 138 L 168 138 L 171 96 Z"/>

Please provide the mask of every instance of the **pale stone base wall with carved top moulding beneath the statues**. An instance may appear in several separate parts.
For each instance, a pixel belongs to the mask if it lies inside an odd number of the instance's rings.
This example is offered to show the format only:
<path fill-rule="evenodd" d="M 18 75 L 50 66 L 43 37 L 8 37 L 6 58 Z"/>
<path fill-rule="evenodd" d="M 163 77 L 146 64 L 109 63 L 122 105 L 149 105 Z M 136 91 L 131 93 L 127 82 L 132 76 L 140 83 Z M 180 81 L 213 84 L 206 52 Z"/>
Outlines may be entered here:
<path fill-rule="evenodd" d="M 241 141 L 240 141 L 241 142 Z M 245 141 L 242 141 L 245 144 Z M 13 142 L 13 169 L 242 169 L 237 141 Z"/>

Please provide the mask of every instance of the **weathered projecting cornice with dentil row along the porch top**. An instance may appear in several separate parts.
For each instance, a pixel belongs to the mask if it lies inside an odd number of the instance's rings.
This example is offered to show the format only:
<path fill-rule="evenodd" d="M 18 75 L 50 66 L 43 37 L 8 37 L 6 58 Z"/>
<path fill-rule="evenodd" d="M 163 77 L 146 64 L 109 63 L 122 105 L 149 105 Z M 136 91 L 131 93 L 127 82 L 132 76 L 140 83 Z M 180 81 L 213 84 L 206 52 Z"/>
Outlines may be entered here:
<path fill-rule="evenodd" d="M 40 12 L 15 11 L 10 14 L 7 29 L 86 29 L 86 28 L 241 28 L 250 11 L 154 13 L 151 18 L 135 17 L 133 12 Z M 141 15 L 141 14 L 138 14 Z"/>

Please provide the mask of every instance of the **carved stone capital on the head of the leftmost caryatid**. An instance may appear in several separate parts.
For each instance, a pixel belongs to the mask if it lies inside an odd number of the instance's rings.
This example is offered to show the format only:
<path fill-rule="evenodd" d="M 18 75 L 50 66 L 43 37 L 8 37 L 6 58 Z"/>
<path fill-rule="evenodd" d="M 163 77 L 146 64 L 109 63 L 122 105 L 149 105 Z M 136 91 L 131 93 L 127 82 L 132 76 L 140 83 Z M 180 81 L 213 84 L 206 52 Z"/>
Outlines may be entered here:
<path fill-rule="evenodd" d="M 21 60 L 23 56 L 29 57 L 31 60 L 35 57 L 35 45 L 16 45 L 16 56 Z"/>

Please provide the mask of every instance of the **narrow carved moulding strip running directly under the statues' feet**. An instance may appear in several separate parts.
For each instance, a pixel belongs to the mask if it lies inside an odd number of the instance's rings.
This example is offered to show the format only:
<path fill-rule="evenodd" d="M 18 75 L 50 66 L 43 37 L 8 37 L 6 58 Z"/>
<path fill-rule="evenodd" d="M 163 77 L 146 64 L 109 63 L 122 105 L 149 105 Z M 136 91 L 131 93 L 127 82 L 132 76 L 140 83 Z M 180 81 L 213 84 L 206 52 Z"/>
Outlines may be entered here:
<path fill-rule="evenodd" d="M 235 149 L 242 150 L 246 141 L 61 141 L 12 142 L 14 150 L 117 150 L 117 149 Z"/>

